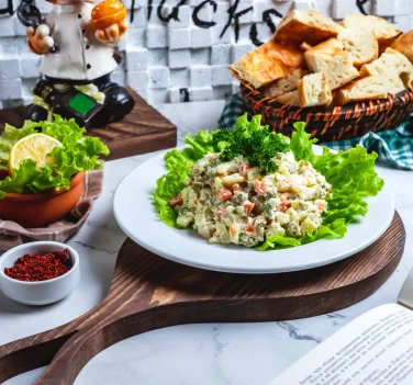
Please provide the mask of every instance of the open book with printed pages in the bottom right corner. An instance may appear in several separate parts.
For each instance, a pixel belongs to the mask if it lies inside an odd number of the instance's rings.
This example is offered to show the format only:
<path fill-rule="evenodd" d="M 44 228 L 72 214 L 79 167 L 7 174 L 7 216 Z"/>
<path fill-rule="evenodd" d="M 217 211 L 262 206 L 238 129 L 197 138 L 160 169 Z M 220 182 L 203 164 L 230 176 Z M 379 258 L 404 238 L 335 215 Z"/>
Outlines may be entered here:
<path fill-rule="evenodd" d="M 398 304 L 356 318 L 268 385 L 412 385 L 413 270 Z"/>

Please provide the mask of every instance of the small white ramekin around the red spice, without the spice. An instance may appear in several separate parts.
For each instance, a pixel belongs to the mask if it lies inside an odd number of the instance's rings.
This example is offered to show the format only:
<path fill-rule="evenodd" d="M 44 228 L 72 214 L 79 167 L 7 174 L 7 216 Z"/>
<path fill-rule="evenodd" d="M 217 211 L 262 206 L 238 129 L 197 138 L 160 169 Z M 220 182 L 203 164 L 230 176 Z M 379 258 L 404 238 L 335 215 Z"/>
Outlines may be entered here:
<path fill-rule="evenodd" d="M 19 257 L 45 254 L 69 250 L 74 263 L 65 274 L 47 281 L 25 282 L 13 280 L 4 274 L 4 268 L 14 265 Z M 20 245 L 0 257 L 0 290 L 10 298 L 25 305 L 47 305 L 68 296 L 80 280 L 79 254 L 74 248 L 60 242 L 38 241 Z"/>

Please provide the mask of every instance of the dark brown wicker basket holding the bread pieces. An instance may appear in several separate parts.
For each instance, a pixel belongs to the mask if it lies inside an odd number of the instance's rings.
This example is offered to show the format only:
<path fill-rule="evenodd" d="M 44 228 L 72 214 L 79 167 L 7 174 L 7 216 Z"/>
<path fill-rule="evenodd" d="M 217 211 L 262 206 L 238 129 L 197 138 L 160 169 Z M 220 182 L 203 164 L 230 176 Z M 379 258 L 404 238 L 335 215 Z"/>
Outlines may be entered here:
<path fill-rule="evenodd" d="M 413 112 L 413 92 L 405 90 L 388 99 L 369 100 L 335 107 L 306 107 L 281 104 L 265 98 L 250 84 L 241 84 L 241 93 L 263 123 L 291 136 L 295 122 L 305 122 L 306 131 L 320 143 L 348 139 L 370 131 L 398 127 Z"/>

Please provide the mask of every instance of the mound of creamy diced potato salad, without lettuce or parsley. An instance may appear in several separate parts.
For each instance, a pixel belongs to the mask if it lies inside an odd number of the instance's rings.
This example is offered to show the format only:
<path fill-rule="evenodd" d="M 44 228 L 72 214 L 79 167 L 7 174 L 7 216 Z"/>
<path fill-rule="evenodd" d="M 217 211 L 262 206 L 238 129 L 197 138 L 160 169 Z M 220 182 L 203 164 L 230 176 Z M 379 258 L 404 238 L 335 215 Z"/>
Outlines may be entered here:
<path fill-rule="evenodd" d="M 322 225 L 332 186 L 291 150 L 272 159 L 263 175 L 243 155 L 223 161 L 206 154 L 192 167 L 187 186 L 171 201 L 179 227 L 192 226 L 211 244 L 254 247 L 274 235 L 301 238 Z"/>

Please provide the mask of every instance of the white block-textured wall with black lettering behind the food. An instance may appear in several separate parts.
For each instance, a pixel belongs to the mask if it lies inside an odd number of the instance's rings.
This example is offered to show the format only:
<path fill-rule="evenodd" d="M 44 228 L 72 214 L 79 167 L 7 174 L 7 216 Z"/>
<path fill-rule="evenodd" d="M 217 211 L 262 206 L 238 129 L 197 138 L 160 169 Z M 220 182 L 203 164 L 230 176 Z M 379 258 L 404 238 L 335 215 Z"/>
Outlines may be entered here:
<path fill-rule="evenodd" d="M 294 8 L 316 9 L 336 20 L 362 10 L 386 16 L 403 31 L 413 27 L 413 0 L 187 0 L 179 7 L 177 20 L 169 22 L 158 18 L 160 0 L 152 1 L 150 16 L 149 0 L 135 0 L 133 22 L 133 1 L 122 1 L 129 9 L 131 27 L 120 44 L 124 63 L 112 79 L 130 84 L 155 104 L 222 99 L 237 92 L 238 83 L 227 66 L 254 48 L 253 32 L 258 42 L 272 35 L 270 23 L 264 19 L 269 10 L 284 15 Z M 44 14 L 53 7 L 46 0 L 36 2 Z M 161 18 L 168 18 L 179 2 L 167 0 L 159 11 Z M 0 10 L 7 3 L 0 0 Z M 19 3 L 13 0 L 13 11 Z M 230 15 L 230 7 L 235 4 L 234 12 L 243 15 Z M 269 18 L 274 25 L 280 22 L 277 14 Z M 15 12 L 0 15 L 0 107 L 31 101 L 30 88 L 38 77 L 40 63 L 41 58 L 29 52 L 25 29 Z"/>

